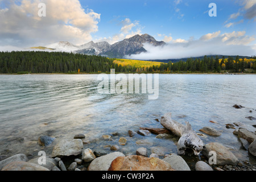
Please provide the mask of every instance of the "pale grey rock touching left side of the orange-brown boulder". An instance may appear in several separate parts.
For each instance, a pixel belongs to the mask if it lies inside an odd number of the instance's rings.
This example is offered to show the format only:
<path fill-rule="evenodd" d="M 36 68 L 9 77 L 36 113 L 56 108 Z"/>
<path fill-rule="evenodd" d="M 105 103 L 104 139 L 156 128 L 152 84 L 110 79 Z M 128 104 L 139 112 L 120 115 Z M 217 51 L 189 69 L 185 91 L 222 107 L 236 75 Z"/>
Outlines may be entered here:
<path fill-rule="evenodd" d="M 108 171 L 112 161 L 119 156 L 125 155 L 121 152 L 113 152 L 108 155 L 100 156 L 90 163 L 88 171 Z"/>

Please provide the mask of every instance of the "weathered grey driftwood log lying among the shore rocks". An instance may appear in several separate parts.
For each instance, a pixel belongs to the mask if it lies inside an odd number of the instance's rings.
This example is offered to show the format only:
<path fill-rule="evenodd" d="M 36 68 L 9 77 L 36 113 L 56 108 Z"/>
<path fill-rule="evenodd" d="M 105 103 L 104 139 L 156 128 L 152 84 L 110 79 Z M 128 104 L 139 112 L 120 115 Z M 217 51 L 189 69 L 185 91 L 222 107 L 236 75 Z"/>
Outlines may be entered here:
<path fill-rule="evenodd" d="M 205 146 L 203 141 L 195 131 L 192 130 L 189 122 L 186 122 L 187 125 L 182 125 L 171 118 L 171 113 L 167 113 L 161 118 L 160 123 L 177 137 L 180 137 L 177 143 L 178 155 L 184 155 L 186 152 L 191 152 L 191 150 L 193 150 L 195 155 L 199 155 L 200 152 L 204 150 Z"/>

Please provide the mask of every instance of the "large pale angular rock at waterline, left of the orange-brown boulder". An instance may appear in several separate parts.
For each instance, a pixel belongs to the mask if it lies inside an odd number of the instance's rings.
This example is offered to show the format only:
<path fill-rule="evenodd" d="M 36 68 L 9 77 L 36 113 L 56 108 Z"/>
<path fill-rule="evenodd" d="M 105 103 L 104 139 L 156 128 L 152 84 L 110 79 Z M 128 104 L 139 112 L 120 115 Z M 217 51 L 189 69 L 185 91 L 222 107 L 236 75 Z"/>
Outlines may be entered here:
<path fill-rule="evenodd" d="M 84 146 L 81 139 L 61 140 L 53 147 L 52 158 L 79 155 L 82 153 L 82 148 Z"/>

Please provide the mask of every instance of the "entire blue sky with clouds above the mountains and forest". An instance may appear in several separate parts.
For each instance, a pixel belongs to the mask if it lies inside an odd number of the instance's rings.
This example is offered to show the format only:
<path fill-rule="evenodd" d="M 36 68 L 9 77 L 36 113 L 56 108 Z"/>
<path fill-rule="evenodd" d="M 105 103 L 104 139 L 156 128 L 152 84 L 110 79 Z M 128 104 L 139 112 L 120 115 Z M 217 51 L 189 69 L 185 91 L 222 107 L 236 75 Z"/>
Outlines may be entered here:
<path fill-rule="evenodd" d="M 46 5 L 40 17 L 39 3 Z M 216 15 L 209 16 L 216 5 Z M 145 45 L 132 59 L 256 55 L 256 0 L 0 0 L 0 51 L 60 41 L 110 44 L 149 34 L 166 46 Z"/>

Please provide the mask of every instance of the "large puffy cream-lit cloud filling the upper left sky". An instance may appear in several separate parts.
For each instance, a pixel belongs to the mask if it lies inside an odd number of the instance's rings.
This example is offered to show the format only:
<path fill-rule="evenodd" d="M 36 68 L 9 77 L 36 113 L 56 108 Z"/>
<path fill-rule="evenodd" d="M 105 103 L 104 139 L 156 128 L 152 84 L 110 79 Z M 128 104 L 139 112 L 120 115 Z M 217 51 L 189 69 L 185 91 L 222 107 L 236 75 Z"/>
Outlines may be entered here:
<path fill-rule="evenodd" d="M 82 44 L 98 31 L 100 14 L 84 10 L 79 0 L 44 0 L 46 17 L 38 16 L 40 0 L 2 0 L 0 45 L 44 46 L 61 40 Z M 9 44 L 6 44 L 9 40 Z"/>

